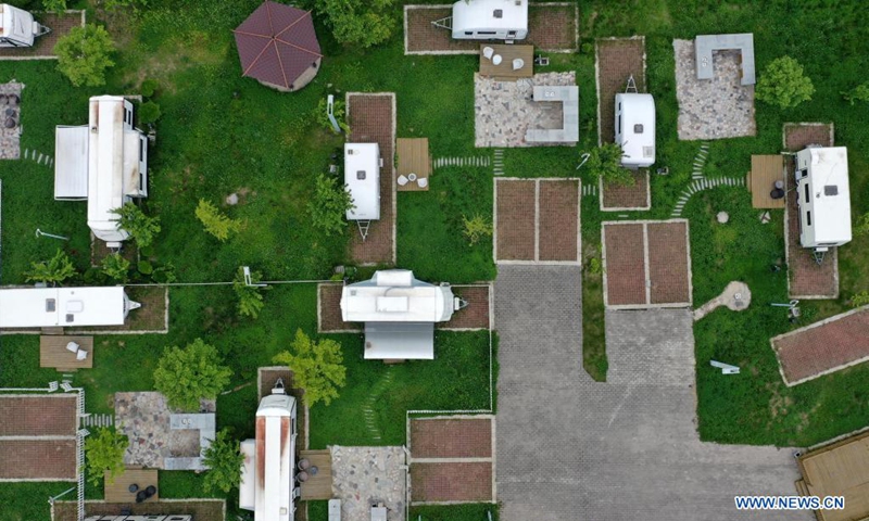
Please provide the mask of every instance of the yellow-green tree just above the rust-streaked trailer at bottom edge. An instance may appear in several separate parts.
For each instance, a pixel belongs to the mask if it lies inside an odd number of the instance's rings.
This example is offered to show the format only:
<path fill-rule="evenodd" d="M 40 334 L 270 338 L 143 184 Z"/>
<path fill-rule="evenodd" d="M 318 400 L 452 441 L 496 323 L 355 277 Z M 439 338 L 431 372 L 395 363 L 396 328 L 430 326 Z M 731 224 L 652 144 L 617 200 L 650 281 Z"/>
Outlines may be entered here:
<path fill-rule="evenodd" d="M 291 352 L 275 356 L 275 364 L 289 366 L 293 371 L 294 382 L 305 390 L 302 398 L 305 405 L 313 407 L 318 402 L 329 405 L 338 397 L 338 387 L 347 382 L 341 344 L 329 339 L 313 341 L 299 329 L 290 347 Z"/>

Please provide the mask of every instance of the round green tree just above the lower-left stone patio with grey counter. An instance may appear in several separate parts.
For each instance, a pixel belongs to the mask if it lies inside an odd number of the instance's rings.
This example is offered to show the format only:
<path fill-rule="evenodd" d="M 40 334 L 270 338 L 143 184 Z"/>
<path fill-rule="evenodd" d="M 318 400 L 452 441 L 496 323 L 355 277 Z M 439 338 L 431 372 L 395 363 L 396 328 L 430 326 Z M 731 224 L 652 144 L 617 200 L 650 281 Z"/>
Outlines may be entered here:
<path fill-rule="evenodd" d="M 217 348 L 202 339 L 185 348 L 168 347 L 154 370 L 154 389 L 171 406 L 196 410 L 201 398 L 216 398 L 229 384 L 232 371 L 222 364 Z"/>

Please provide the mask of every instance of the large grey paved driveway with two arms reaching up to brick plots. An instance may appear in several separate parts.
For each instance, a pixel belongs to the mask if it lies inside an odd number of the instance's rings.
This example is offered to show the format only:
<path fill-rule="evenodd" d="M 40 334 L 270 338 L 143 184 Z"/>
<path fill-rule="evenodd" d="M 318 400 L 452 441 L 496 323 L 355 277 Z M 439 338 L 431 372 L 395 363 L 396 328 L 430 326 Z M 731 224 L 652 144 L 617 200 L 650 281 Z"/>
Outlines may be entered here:
<path fill-rule="evenodd" d="M 739 512 L 795 493 L 791 450 L 701 443 L 685 309 L 606 316 L 613 382 L 581 368 L 578 267 L 499 266 L 498 496 L 504 521 L 810 520 Z"/>

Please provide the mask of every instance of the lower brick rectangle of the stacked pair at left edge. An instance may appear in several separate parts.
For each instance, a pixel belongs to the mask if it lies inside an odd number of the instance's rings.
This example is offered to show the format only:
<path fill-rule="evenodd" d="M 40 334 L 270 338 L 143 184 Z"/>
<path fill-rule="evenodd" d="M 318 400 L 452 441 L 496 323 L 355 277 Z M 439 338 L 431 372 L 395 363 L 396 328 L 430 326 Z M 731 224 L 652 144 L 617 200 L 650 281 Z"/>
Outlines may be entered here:
<path fill-rule="evenodd" d="M 75 440 L 0 440 L 0 479 L 75 480 Z"/>

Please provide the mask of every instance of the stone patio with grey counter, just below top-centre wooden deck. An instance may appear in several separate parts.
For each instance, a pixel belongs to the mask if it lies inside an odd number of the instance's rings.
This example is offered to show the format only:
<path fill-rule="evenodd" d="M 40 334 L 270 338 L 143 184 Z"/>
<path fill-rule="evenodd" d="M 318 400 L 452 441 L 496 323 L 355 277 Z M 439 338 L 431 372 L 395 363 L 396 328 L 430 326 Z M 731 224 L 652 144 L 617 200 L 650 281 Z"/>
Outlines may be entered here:
<path fill-rule="evenodd" d="M 498 81 L 474 75 L 475 145 L 534 147 L 525 141 L 526 130 L 562 128 L 561 103 L 532 100 L 534 86 L 567 87 L 576 73 L 544 73 L 518 81 Z"/>

